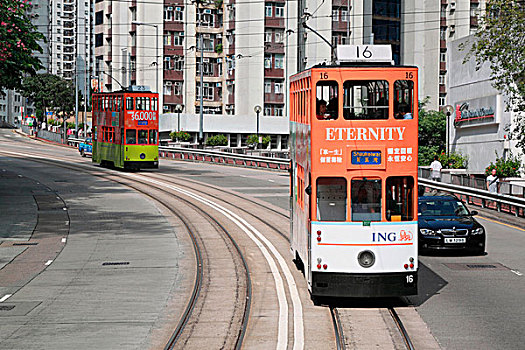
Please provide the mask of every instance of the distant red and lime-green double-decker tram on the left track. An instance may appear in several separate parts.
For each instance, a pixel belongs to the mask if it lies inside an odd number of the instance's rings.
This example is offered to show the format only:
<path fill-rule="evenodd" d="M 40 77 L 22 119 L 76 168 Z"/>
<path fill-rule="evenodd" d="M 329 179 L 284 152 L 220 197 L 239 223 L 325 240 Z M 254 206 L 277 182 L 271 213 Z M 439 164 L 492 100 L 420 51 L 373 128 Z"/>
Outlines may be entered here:
<path fill-rule="evenodd" d="M 159 167 L 158 94 L 93 94 L 93 162 L 122 169 Z"/>

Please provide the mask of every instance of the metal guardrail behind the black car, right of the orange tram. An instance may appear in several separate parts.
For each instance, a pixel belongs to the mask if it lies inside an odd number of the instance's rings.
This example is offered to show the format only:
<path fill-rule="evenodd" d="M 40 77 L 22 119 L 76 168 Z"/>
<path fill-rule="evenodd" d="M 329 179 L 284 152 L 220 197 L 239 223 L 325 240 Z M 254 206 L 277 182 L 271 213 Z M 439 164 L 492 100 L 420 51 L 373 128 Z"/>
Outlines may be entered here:
<path fill-rule="evenodd" d="M 525 216 L 525 198 L 491 193 L 487 190 L 447 184 L 423 178 L 418 178 L 418 184 L 423 188 L 428 187 L 459 195 L 468 204 L 478 205 L 482 208 L 495 209 L 499 212 L 513 214 L 517 217 Z"/>

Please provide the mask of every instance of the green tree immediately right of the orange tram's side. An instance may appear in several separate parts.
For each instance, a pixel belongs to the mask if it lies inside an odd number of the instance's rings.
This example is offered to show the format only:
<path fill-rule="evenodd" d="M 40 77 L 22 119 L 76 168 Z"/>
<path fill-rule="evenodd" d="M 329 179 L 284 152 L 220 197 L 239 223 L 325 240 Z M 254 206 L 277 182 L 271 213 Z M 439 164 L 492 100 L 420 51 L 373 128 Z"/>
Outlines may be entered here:
<path fill-rule="evenodd" d="M 447 116 L 425 109 L 427 101 L 419 103 L 419 165 L 429 165 L 446 147 Z"/>

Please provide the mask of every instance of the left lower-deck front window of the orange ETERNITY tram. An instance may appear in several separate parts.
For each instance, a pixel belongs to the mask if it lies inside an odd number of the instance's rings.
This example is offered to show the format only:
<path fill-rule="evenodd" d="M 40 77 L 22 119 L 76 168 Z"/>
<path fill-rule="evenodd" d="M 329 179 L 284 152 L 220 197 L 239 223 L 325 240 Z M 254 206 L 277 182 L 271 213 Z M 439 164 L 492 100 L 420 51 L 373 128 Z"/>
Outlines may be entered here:
<path fill-rule="evenodd" d="M 346 187 L 343 177 L 317 179 L 317 220 L 346 221 Z"/>

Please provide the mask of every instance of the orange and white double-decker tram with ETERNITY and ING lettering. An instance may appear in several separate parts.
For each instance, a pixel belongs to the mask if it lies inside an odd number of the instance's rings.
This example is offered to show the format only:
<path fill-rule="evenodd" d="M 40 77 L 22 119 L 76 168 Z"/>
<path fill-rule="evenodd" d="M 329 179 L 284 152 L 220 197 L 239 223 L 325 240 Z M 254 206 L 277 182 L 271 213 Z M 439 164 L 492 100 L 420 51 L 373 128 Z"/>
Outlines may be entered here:
<path fill-rule="evenodd" d="M 337 53 L 290 78 L 292 252 L 313 297 L 417 294 L 418 70 Z"/>

